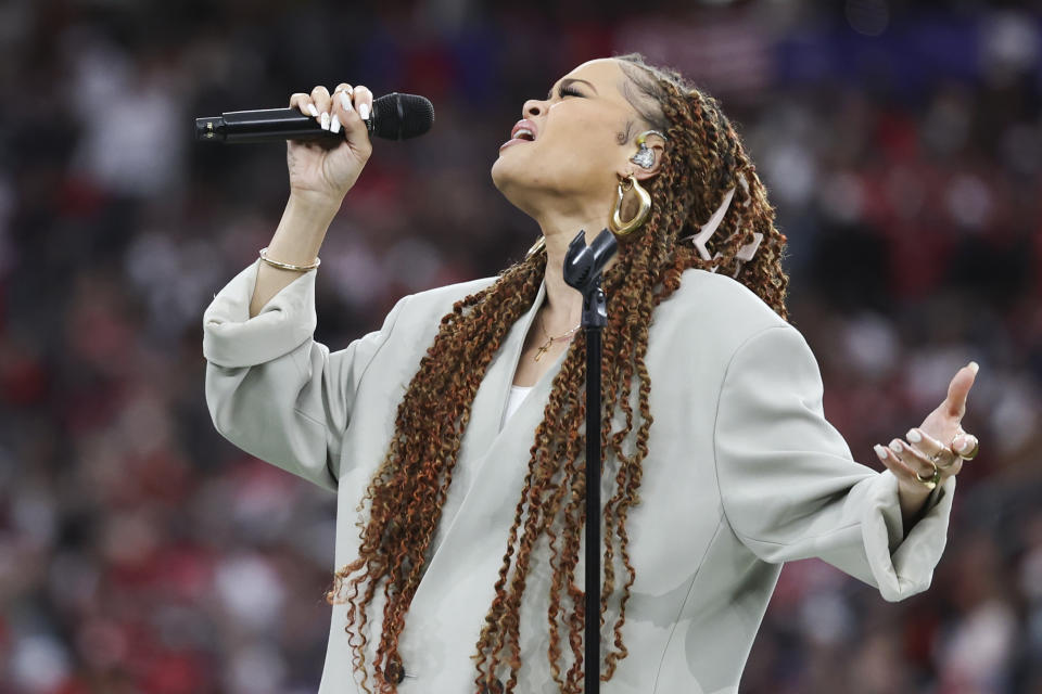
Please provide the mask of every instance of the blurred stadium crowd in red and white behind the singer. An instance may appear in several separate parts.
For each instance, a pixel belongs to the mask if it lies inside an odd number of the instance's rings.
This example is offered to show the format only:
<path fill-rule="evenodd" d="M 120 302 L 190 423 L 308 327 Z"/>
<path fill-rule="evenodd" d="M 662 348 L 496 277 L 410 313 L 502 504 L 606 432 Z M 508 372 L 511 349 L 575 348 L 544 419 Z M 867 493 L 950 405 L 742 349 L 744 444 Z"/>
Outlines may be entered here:
<path fill-rule="evenodd" d="M 270 239 L 284 157 L 192 119 L 342 80 L 434 102 L 329 232 L 336 349 L 520 257 L 537 230 L 487 171 L 521 104 L 638 50 L 744 134 L 855 459 L 881 468 L 872 445 L 981 364 L 933 587 L 889 604 L 788 565 L 741 691 L 1042 693 L 1039 3 L 376 4 L 0 5 L 0 692 L 317 689 L 334 499 L 226 442 L 203 397 L 203 309 Z"/>

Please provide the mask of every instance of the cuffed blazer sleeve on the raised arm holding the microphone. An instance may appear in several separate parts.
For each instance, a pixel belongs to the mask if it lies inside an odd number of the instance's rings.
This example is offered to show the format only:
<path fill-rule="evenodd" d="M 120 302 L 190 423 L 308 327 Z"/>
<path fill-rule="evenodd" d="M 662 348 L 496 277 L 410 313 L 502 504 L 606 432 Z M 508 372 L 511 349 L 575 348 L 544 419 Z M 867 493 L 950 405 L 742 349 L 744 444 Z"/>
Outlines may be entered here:
<path fill-rule="evenodd" d="M 206 406 L 217 430 L 242 450 L 335 490 L 358 383 L 408 297 L 380 331 L 331 354 L 313 338 L 314 270 L 250 318 L 259 262 L 236 275 L 203 314 Z"/>

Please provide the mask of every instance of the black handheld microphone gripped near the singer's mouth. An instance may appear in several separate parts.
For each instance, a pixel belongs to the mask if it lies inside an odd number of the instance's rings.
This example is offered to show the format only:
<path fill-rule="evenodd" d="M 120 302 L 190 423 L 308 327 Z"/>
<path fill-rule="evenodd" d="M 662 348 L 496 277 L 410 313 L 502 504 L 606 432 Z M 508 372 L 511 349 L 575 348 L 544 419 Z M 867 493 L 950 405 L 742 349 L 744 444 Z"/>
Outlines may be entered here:
<path fill-rule="evenodd" d="M 392 92 L 372 102 L 372 114 L 364 121 L 369 137 L 408 140 L 431 129 L 434 106 L 417 94 Z M 195 119 L 195 139 L 203 142 L 281 142 L 283 140 L 342 140 L 343 132 L 322 130 L 318 121 L 296 108 L 229 111 L 219 116 Z"/>

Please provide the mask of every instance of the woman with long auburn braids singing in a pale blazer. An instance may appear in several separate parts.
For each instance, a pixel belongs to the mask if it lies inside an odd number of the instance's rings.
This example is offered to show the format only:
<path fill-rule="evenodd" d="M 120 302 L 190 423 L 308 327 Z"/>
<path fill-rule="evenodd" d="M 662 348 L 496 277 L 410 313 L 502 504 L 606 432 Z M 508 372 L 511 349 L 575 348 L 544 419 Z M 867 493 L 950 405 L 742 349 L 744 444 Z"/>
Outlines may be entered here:
<path fill-rule="evenodd" d="M 340 351 L 313 339 L 318 253 L 371 149 L 372 94 L 290 104 L 342 132 L 290 142 L 262 258 L 204 317 L 206 399 L 243 450 L 336 491 L 321 694 L 735 692 L 784 562 L 888 601 L 926 590 L 977 367 L 918 427 L 853 460 L 786 321 L 785 236 L 717 103 L 638 55 L 524 103 L 492 167 L 542 230 L 497 278 L 401 299 Z M 641 193 L 650 207 L 640 205 Z M 583 663 L 584 337 L 562 261 L 609 227 L 601 661 Z M 596 617 L 595 617 L 596 618 Z"/>

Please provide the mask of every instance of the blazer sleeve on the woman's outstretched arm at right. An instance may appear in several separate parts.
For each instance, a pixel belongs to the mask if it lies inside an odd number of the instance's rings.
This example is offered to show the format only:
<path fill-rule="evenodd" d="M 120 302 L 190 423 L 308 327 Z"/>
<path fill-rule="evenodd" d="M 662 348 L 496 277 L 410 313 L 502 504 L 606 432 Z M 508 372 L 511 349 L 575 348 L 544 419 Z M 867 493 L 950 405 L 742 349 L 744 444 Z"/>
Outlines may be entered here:
<path fill-rule="evenodd" d="M 724 513 L 761 560 L 819 557 L 887 601 L 930 586 L 948 536 L 955 478 L 905 535 L 898 479 L 855 462 L 825 419 L 817 361 L 788 324 L 733 355 L 717 400 L 714 451 Z"/>

